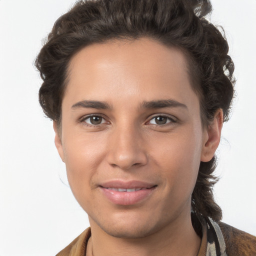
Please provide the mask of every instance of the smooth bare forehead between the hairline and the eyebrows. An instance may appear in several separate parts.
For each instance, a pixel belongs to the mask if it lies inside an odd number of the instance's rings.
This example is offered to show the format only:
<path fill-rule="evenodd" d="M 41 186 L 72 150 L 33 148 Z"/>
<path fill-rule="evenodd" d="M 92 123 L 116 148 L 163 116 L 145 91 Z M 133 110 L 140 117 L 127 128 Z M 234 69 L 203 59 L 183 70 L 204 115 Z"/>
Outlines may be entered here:
<path fill-rule="evenodd" d="M 187 60 L 181 50 L 140 38 L 94 43 L 78 51 L 69 63 L 63 101 L 66 95 L 72 101 L 166 97 L 182 101 L 191 93 Z"/>

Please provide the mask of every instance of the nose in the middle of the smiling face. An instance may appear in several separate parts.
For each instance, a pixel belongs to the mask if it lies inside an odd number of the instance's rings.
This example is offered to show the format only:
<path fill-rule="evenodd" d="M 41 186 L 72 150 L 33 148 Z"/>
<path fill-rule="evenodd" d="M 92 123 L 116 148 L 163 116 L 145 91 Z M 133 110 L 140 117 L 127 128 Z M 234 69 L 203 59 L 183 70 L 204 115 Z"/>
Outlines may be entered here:
<path fill-rule="evenodd" d="M 145 165 L 145 143 L 139 130 L 135 127 L 116 127 L 109 137 L 107 161 L 123 170 Z"/>

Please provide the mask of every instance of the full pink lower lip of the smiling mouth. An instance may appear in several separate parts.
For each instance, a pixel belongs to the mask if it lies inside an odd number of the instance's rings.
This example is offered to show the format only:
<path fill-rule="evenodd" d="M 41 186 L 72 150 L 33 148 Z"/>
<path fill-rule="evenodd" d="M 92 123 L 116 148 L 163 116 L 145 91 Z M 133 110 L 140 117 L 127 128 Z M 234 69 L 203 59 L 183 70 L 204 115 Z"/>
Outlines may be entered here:
<path fill-rule="evenodd" d="M 132 192 L 119 192 L 104 187 L 100 187 L 100 189 L 112 203 L 119 205 L 132 205 L 147 198 L 155 189 L 155 186 Z"/>

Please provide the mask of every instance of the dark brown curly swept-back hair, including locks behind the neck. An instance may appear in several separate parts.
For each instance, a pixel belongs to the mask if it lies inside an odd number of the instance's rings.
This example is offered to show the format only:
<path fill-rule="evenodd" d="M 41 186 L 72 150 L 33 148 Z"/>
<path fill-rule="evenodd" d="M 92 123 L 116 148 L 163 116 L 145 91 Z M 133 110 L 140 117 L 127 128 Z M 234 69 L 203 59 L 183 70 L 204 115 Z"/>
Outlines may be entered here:
<path fill-rule="evenodd" d="M 149 37 L 180 48 L 187 57 L 194 91 L 200 99 L 202 125 L 217 109 L 228 119 L 233 97 L 234 65 L 224 35 L 205 16 L 209 0 L 80 0 L 59 17 L 35 66 L 43 80 L 39 102 L 46 116 L 60 123 L 61 101 L 71 57 L 82 47 L 112 39 Z M 201 162 L 191 210 L 218 221 L 221 209 L 213 198 L 215 156 Z"/>

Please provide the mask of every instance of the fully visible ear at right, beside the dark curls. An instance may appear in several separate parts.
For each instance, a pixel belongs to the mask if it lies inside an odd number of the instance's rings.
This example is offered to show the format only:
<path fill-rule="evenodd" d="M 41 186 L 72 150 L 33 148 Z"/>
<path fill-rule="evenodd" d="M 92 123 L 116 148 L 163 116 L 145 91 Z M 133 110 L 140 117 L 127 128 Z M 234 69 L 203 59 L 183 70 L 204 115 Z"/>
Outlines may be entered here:
<path fill-rule="evenodd" d="M 204 131 L 204 141 L 201 150 L 201 161 L 207 162 L 213 157 L 221 135 L 223 125 L 223 111 L 219 108 L 214 115 L 214 119 Z"/>

